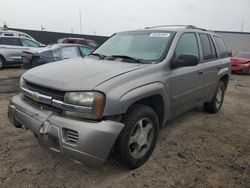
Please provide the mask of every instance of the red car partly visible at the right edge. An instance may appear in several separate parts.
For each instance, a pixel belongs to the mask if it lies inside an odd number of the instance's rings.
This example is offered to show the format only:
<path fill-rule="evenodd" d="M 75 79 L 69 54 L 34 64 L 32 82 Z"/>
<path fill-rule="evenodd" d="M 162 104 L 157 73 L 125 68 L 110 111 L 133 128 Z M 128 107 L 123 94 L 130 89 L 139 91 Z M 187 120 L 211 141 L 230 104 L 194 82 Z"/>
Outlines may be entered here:
<path fill-rule="evenodd" d="M 230 60 L 232 72 L 250 74 L 250 52 L 240 52 Z"/>

